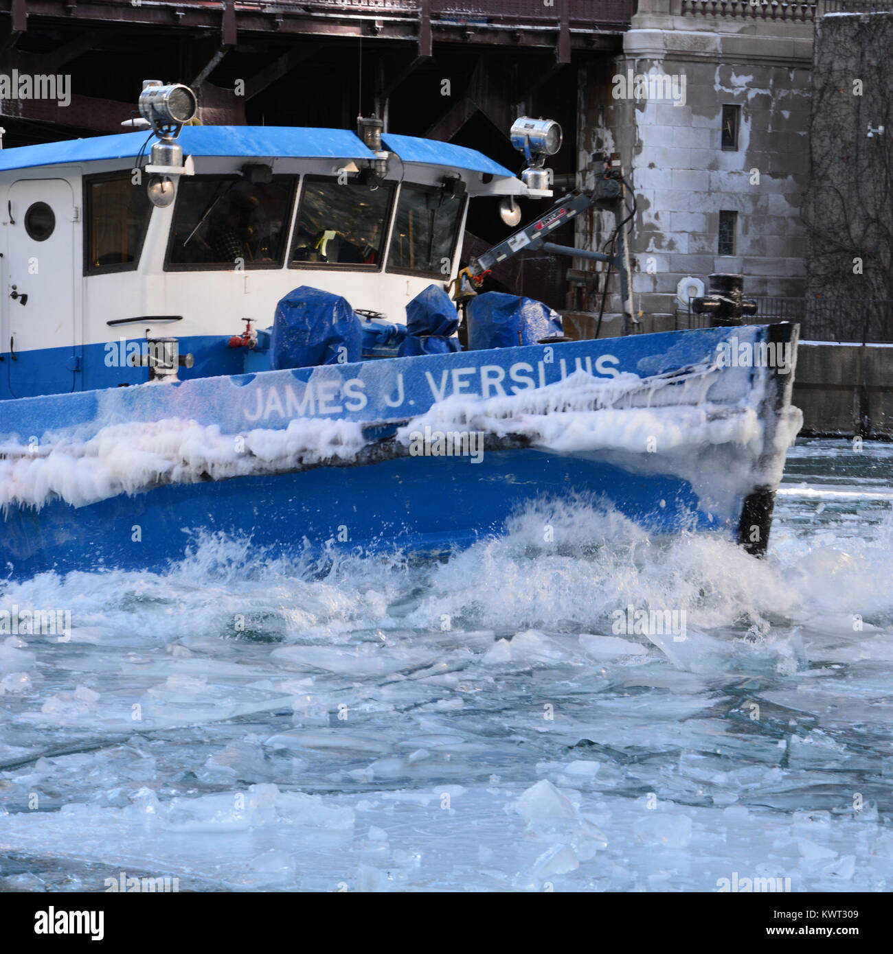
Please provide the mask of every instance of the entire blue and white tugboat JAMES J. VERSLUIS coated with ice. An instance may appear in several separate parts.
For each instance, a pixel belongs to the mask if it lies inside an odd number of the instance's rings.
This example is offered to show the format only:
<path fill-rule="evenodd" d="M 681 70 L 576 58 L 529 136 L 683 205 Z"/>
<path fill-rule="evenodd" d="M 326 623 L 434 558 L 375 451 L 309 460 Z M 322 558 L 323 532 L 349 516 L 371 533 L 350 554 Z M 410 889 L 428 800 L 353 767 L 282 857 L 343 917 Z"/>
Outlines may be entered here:
<path fill-rule="evenodd" d="M 796 325 L 570 341 L 542 303 L 476 294 L 521 248 L 600 259 L 634 330 L 616 157 L 460 268 L 470 201 L 514 226 L 552 195 L 558 124 L 516 122 L 515 176 L 374 117 L 202 126 L 154 80 L 139 112 L 0 151 L 3 575 L 164 570 L 207 534 L 438 552 L 569 499 L 765 552 Z M 593 207 L 609 255 L 548 242 Z"/>

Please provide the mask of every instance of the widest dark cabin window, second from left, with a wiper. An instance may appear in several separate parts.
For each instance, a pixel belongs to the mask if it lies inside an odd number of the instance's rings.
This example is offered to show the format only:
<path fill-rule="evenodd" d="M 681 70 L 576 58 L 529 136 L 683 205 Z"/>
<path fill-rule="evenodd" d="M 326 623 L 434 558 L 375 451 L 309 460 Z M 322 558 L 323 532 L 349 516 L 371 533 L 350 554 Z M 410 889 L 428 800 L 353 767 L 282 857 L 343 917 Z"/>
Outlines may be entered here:
<path fill-rule="evenodd" d="M 281 268 L 295 176 L 182 176 L 167 271 Z"/>

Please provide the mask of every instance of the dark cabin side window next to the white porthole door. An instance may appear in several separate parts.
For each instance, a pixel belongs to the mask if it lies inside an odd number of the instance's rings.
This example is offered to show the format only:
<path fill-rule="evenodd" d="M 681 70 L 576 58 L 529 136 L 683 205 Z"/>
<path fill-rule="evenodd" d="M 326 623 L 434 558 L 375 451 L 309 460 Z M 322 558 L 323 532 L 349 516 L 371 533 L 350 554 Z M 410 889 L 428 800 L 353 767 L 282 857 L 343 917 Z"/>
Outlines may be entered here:
<path fill-rule="evenodd" d="M 149 226 L 152 203 L 130 172 L 84 178 L 84 274 L 135 269 Z"/>

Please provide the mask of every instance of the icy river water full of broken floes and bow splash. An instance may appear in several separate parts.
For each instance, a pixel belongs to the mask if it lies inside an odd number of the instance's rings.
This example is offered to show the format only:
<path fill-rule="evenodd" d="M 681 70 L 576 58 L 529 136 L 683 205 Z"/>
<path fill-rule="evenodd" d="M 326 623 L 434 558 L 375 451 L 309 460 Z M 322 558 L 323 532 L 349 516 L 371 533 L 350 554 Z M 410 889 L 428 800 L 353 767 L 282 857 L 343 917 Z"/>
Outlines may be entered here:
<path fill-rule="evenodd" d="M 207 541 L 13 607 L 72 631 L 0 635 L 0 889 L 893 888 L 890 445 L 792 448 L 765 561 L 544 508 L 445 562 Z"/>

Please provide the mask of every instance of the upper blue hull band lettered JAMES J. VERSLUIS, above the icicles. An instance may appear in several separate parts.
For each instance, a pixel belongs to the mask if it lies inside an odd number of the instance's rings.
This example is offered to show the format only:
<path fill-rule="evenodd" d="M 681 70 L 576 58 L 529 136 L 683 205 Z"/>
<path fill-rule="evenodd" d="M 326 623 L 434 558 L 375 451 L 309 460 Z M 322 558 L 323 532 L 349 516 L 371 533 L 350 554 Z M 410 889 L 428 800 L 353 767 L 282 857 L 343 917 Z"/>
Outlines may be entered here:
<path fill-rule="evenodd" d="M 148 387 L 117 386 L 120 382 L 145 382 L 148 372 L 145 368 L 107 367 L 103 361 L 106 347 L 117 348 L 116 360 L 120 357 L 120 343 L 109 342 L 109 345 L 85 349 L 88 356 L 85 363 L 89 360 L 96 374 L 104 376 L 105 383 L 101 386 L 109 390 L 0 402 L 0 434 L 17 435 L 27 441 L 32 434 L 77 426 L 84 428 L 85 436 L 91 436 L 104 424 L 165 418 L 191 419 L 202 425 L 222 424 L 226 433 L 238 433 L 243 426 L 286 427 L 292 418 L 300 417 L 397 421 L 421 414 L 436 401 L 456 394 L 483 397 L 498 394 L 497 384 L 491 379 L 499 375 L 484 370 L 492 365 L 499 366 L 504 389 L 509 393 L 516 393 L 511 388 L 520 390 L 528 382 L 538 387 L 555 384 L 575 370 L 585 370 L 602 378 L 621 372 L 647 378 L 715 357 L 717 345 L 726 341 L 731 333 L 739 341 L 752 342 L 759 340 L 766 328 L 759 325 L 731 330 L 702 328 L 598 341 L 326 364 L 259 374 L 240 374 L 240 367 L 231 376 L 225 373 L 219 377 L 195 376 L 178 384 Z M 227 348 L 227 340 L 224 337 L 182 338 L 181 352 L 194 352 L 196 367 L 181 368 L 181 378 L 196 375 L 200 363 L 210 366 L 224 355 L 233 364 L 243 363 L 243 349 Z M 745 376 L 744 369 L 730 368 L 726 373 L 742 377 L 738 389 L 743 395 L 752 372 Z M 362 399 L 346 397 L 348 382 L 359 383 L 356 387 Z M 313 397 L 312 402 L 308 394 Z"/>

